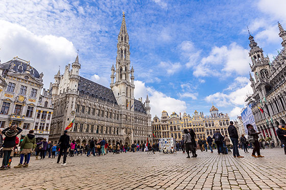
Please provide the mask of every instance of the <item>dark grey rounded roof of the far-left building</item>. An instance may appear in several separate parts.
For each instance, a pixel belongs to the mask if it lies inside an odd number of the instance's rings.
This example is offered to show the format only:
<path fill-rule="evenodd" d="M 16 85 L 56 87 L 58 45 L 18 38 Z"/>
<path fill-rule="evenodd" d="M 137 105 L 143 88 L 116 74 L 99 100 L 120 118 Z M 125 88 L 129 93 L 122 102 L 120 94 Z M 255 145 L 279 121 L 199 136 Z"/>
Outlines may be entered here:
<path fill-rule="evenodd" d="M 11 68 L 11 65 L 13 65 L 12 66 L 13 68 Z M 20 69 L 19 65 L 23 66 L 23 69 Z M 27 70 L 27 66 L 28 66 L 27 63 L 20 62 L 18 60 L 10 60 L 10 61 L 8 61 L 6 63 L 1 64 L 0 68 L 3 69 L 3 70 L 5 70 L 5 69 L 9 70 L 11 68 L 11 70 L 13 70 L 15 72 L 24 73 Z M 34 73 L 33 73 L 32 70 L 34 70 Z M 40 78 L 39 72 L 32 66 L 30 66 L 30 74 L 32 76 L 34 76 L 35 78 Z"/>

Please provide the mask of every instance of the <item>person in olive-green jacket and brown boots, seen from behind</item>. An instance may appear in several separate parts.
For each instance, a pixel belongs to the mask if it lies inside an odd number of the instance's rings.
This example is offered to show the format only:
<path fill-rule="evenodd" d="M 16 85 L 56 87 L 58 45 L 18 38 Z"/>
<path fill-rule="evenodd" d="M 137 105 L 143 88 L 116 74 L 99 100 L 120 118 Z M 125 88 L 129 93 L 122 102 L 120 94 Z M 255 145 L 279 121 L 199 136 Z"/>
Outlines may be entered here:
<path fill-rule="evenodd" d="M 32 148 L 34 144 L 36 144 L 35 134 L 33 133 L 34 133 L 34 130 L 30 130 L 29 134 L 27 134 L 25 138 L 23 139 L 23 141 L 21 142 L 20 163 L 18 164 L 18 166 L 15 166 L 14 168 L 22 168 L 22 167 L 27 168 L 29 166 L 31 153 L 33 152 Z M 23 164 L 24 156 L 25 156 L 25 162 Z"/>

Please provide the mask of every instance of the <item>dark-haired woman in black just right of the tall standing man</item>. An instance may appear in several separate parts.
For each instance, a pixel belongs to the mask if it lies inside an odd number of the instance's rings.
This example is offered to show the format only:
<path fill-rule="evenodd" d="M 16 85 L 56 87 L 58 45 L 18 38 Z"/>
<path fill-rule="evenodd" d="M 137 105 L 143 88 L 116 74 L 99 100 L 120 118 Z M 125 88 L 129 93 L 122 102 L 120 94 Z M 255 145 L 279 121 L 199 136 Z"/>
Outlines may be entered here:
<path fill-rule="evenodd" d="M 253 157 L 264 157 L 260 155 L 260 146 L 259 146 L 259 142 L 258 142 L 258 134 L 261 133 L 260 132 L 256 132 L 256 130 L 253 128 L 253 126 L 251 124 L 247 124 L 246 125 L 247 129 L 248 129 L 248 142 L 252 143 L 254 148 L 252 151 L 251 156 Z M 255 152 L 257 153 L 257 156 L 255 155 Z"/>

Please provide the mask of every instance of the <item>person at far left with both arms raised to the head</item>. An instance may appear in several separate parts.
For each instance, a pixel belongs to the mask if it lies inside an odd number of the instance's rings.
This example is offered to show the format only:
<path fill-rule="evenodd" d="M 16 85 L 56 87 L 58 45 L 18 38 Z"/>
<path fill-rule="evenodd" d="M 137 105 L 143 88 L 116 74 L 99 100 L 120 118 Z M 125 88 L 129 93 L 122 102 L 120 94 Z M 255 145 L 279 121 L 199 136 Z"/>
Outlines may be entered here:
<path fill-rule="evenodd" d="M 22 132 L 22 129 L 20 127 L 17 127 L 17 125 L 9 126 L 8 128 L 2 131 L 2 133 L 6 137 L 3 143 L 4 157 L 2 160 L 2 167 L 0 168 L 0 170 L 8 170 L 8 164 L 10 161 L 11 153 L 14 150 L 14 147 L 16 146 L 16 137 L 20 132 Z"/>

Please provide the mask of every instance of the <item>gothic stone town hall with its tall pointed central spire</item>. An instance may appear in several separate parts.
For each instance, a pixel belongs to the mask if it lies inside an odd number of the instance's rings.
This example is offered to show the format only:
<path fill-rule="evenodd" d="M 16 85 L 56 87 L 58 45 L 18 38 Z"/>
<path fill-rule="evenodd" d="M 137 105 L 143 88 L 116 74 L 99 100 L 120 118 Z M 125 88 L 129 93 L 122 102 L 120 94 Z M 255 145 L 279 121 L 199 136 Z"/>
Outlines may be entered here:
<path fill-rule="evenodd" d="M 118 34 L 115 67 L 111 67 L 110 88 L 79 75 L 81 64 L 65 66 L 63 74 L 55 75 L 52 85 L 54 114 L 50 140 L 57 143 L 65 127 L 71 140 L 88 143 L 91 138 L 105 138 L 108 143 L 146 143 L 151 137 L 150 100 L 134 98 L 134 69 L 130 68 L 129 36 L 125 15 Z M 151 138 L 150 138 L 151 139 Z"/>

